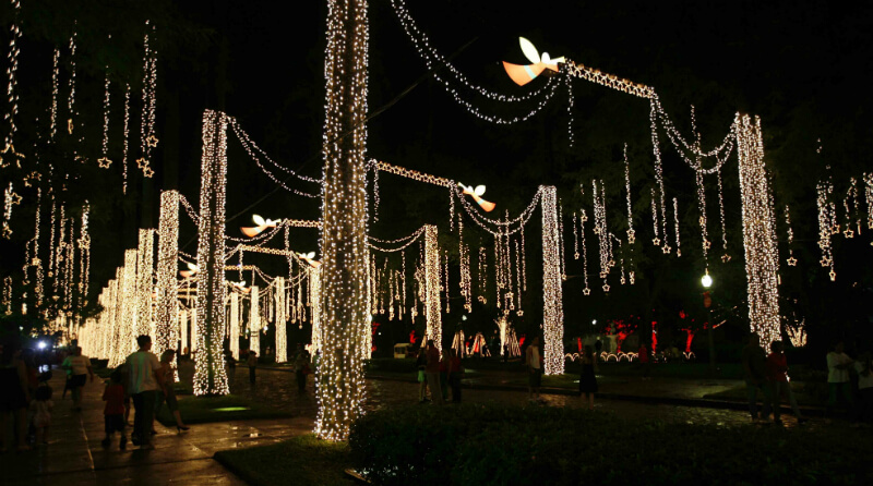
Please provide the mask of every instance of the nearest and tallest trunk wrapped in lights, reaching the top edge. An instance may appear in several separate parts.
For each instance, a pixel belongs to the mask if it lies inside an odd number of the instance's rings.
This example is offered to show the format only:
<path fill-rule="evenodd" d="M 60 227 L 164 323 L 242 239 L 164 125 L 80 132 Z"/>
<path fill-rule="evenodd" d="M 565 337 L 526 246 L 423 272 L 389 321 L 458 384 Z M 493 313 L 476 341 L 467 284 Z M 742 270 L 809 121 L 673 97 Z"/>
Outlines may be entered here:
<path fill-rule="evenodd" d="M 344 440 L 361 415 L 367 302 L 367 0 L 328 0 L 321 234 L 322 359 L 315 434 Z"/>

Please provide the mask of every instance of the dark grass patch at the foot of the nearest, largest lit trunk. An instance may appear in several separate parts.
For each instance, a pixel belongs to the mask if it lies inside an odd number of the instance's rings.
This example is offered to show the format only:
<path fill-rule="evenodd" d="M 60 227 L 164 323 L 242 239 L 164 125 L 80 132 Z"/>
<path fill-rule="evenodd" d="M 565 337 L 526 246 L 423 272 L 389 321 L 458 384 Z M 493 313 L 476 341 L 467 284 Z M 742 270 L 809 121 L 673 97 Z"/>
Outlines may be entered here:
<path fill-rule="evenodd" d="M 273 446 L 216 452 L 215 459 L 256 486 L 357 484 L 344 473 L 350 466 L 348 444 L 319 440 L 311 434 Z"/>

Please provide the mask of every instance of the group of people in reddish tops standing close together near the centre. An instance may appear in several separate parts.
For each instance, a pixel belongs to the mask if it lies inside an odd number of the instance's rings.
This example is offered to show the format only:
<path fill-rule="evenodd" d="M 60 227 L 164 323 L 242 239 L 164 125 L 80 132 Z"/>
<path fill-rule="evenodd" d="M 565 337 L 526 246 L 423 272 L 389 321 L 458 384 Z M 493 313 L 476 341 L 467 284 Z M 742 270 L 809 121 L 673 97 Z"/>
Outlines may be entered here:
<path fill-rule="evenodd" d="M 418 351 L 416 360 L 418 368 L 418 402 L 432 402 L 438 405 L 449 401 L 449 389 L 452 389 L 452 402 L 461 403 L 461 378 L 464 367 L 461 357 L 454 349 L 440 350 L 428 340 L 426 348 Z M 430 398 L 427 391 L 430 390 Z"/>

